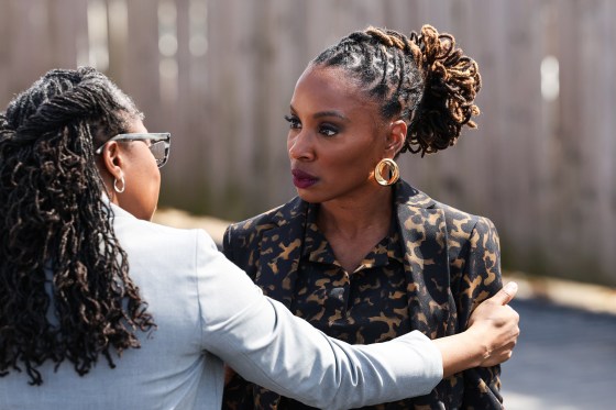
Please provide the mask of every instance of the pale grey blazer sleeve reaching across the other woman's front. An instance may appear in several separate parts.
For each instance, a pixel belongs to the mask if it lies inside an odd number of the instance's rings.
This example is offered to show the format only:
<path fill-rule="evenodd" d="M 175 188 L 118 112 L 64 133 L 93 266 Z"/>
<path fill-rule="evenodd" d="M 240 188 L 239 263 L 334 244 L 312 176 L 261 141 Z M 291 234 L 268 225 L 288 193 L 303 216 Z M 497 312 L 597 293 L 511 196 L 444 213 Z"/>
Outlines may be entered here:
<path fill-rule="evenodd" d="M 424 334 L 358 346 L 330 339 L 265 297 L 205 233 L 196 270 L 204 350 L 260 386 L 344 409 L 425 395 L 442 377 L 440 352 Z"/>

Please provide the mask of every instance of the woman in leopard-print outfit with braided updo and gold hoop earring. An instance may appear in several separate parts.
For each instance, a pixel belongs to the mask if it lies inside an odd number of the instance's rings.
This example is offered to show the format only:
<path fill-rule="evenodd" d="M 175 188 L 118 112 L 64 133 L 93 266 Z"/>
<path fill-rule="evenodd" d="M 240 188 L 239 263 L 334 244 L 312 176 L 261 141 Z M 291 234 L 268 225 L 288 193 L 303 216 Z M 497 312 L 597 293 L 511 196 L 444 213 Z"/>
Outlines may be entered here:
<path fill-rule="evenodd" d="M 477 64 L 429 25 L 409 36 L 369 27 L 327 48 L 297 81 L 286 118 L 298 197 L 229 226 L 224 254 L 266 295 L 349 343 L 464 331 L 502 288 L 496 230 L 399 180 L 395 159 L 454 145 L 475 126 L 480 88 Z M 502 408 L 499 366 L 475 366 L 374 408 Z M 305 408 L 238 376 L 223 401 Z"/>

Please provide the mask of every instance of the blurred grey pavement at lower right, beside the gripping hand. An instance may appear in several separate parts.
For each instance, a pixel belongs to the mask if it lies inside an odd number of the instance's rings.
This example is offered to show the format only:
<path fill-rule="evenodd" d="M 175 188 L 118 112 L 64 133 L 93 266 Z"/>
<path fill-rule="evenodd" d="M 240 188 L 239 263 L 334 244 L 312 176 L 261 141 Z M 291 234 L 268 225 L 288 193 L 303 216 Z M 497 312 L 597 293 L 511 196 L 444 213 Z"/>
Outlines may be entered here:
<path fill-rule="evenodd" d="M 521 334 L 503 365 L 507 410 L 616 409 L 616 314 L 519 299 Z"/>

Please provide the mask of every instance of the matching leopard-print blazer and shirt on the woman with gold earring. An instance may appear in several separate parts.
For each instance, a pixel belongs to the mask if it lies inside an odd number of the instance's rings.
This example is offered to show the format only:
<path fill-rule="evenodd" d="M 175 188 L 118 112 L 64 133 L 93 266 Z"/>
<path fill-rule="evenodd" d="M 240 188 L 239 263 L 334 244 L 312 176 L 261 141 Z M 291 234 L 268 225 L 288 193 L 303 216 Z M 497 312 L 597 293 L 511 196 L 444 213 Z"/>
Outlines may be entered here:
<path fill-rule="evenodd" d="M 411 330 L 431 339 L 459 333 L 476 304 L 502 287 L 496 229 L 404 181 L 394 189 L 391 233 L 351 275 L 314 223 L 318 206 L 299 198 L 229 226 L 223 252 L 265 295 L 349 343 Z M 502 409 L 499 374 L 499 366 L 470 369 L 429 395 L 366 409 Z M 237 375 L 227 385 L 223 408 L 309 409 Z"/>

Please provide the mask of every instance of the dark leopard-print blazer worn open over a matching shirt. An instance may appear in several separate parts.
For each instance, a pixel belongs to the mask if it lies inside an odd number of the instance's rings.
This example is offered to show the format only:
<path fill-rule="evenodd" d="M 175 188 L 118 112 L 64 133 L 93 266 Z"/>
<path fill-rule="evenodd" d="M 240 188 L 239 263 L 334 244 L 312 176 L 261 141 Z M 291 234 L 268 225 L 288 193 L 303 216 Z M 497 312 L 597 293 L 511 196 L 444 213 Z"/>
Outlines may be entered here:
<path fill-rule="evenodd" d="M 404 181 L 394 186 L 404 246 L 408 312 L 413 330 L 431 339 L 466 329 L 473 309 L 502 288 L 494 224 L 437 202 Z M 227 229 L 223 252 L 265 295 L 292 307 L 307 212 L 295 198 Z M 327 333 L 327 332 L 326 332 Z M 502 409 L 501 367 L 473 368 L 442 380 L 429 395 L 374 409 Z M 302 405 L 234 376 L 226 409 L 299 409 Z"/>

